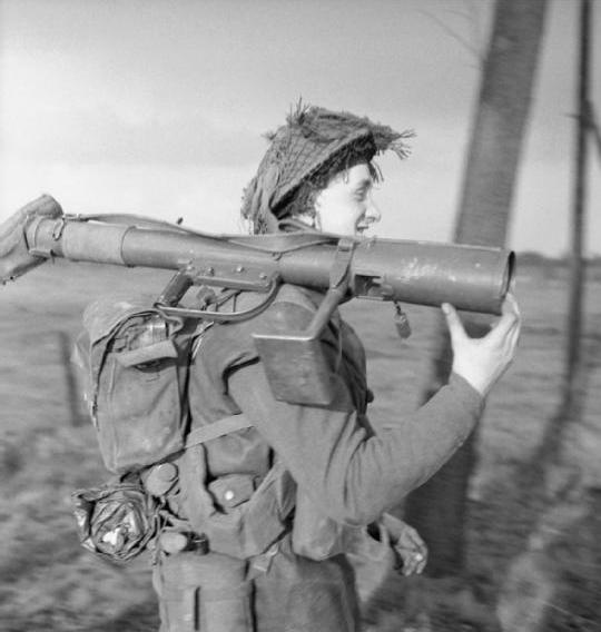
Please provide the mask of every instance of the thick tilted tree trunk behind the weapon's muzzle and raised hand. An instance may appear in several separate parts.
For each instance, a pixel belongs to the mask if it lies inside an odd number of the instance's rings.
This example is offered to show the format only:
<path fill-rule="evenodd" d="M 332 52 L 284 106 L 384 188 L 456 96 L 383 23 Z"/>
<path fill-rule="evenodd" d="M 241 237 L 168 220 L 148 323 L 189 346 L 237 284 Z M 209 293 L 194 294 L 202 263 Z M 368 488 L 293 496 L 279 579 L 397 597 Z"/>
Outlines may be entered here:
<path fill-rule="evenodd" d="M 542 38 L 545 0 L 496 0 L 493 31 L 482 72 L 479 106 L 464 172 L 454 239 L 503 246 L 515 185 L 532 86 Z M 471 335 L 483 332 L 482 317 L 463 315 Z M 446 383 L 451 349 L 442 319 L 427 399 Z M 475 435 L 425 485 L 410 495 L 407 522 L 430 546 L 432 576 L 464 569 L 466 491 L 475 462 Z"/>

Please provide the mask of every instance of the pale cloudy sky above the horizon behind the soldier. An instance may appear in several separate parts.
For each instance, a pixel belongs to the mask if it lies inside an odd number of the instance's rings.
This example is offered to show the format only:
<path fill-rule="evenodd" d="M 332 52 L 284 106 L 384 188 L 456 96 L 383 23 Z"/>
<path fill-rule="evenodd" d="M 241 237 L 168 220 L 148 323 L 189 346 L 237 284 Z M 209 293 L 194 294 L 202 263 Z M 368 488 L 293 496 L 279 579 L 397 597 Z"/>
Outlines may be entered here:
<path fill-rule="evenodd" d="M 568 251 L 578 0 L 550 0 L 508 246 Z M 593 0 L 593 34 L 601 1 Z M 242 191 L 302 98 L 413 129 L 375 234 L 450 239 L 490 0 L 0 0 L 0 221 L 42 192 L 238 233 Z M 595 33 L 597 32 L 597 33 Z M 592 100 L 601 120 L 601 37 Z M 585 250 L 601 255 L 591 146 Z"/>

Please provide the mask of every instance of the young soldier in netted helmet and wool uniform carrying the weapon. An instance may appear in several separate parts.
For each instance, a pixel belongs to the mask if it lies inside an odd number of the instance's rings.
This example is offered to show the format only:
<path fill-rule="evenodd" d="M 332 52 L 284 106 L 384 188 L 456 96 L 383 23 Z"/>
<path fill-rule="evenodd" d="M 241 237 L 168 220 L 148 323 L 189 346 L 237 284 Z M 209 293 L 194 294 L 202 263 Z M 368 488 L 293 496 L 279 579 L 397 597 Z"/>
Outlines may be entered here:
<path fill-rule="evenodd" d="M 358 237 L 380 219 L 373 158 L 385 150 L 404 157 L 408 136 L 347 112 L 299 107 L 269 136 L 243 216 L 256 234 Z M 337 312 L 321 337 L 332 403 L 293 404 L 272 394 L 252 335 L 306 328 L 322 299 L 285 285 L 260 316 L 215 324 L 201 339 L 188 384 L 190 432 L 201 438 L 173 462 L 179 482 L 169 511 L 177 520 L 161 534 L 155 570 L 164 632 L 354 632 L 358 601 L 346 553 L 357 542 L 380 542 L 376 554 L 392 544 L 405 573 L 423 569 L 418 535 L 384 512 L 473 429 L 513 357 L 518 307 L 509 297 L 489 335 L 471 339 L 443 305 L 454 352 L 449 384 L 376 434 L 366 415 L 363 347 Z M 254 300 L 242 293 L 229 307 Z M 193 536 L 174 537 L 184 532 Z"/>

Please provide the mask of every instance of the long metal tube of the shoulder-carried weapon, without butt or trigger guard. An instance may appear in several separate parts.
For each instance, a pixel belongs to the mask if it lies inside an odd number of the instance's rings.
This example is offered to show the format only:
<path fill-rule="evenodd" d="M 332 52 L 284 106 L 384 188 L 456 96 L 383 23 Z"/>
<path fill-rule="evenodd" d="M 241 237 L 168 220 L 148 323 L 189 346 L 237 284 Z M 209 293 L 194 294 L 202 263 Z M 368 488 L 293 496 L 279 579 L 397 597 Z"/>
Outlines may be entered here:
<path fill-rule="evenodd" d="M 245 238 L 249 243 L 248 238 Z M 36 254 L 71 260 L 180 269 L 194 265 L 227 269 L 265 266 L 285 283 L 319 290 L 329 286 L 336 245 L 321 244 L 273 254 L 230 241 L 168 229 L 42 218 L 27 229 Z M 257 241 L 258 244 L 258 241 Z M 511 287 L 510 250 L 427 241 L 366 239 L 349 266 L 353 296 L 499 314 Z"/>

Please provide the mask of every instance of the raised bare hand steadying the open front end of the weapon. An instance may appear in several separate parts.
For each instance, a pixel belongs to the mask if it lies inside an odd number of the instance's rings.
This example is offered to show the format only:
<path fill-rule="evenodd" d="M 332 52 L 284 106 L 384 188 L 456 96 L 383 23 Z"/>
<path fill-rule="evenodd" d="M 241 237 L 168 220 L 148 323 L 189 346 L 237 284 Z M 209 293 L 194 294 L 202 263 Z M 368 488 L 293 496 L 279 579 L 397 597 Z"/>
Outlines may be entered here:
<path fill-rule="evenodd" d="M 471 338 L 452 305 L 443 304 L 451 345 L 453 372 L 466 379 L 485 396 L 505 373 L 515 354 L 520 337 L 520 309 L 512 294 L 508 294 L 502 316 L 483 338 Z"/>

